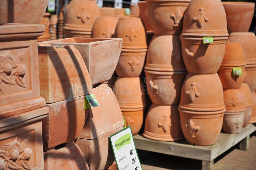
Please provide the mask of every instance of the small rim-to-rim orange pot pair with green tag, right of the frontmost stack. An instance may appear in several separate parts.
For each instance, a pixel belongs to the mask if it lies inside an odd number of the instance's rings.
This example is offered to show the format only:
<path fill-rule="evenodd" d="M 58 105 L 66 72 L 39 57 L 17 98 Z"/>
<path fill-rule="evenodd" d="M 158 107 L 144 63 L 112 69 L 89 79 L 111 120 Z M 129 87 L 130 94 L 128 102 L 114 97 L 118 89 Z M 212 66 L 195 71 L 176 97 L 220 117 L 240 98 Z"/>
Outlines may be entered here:
<path fill-rule="evenodd" d="M 242 68 L 242 75 L 235 76 L 233 68 Z M 245 77 L 245 55 L 240 43 L 227 43 L 223 62 L 218 71 L 224 89 L 239 89 Z"/>

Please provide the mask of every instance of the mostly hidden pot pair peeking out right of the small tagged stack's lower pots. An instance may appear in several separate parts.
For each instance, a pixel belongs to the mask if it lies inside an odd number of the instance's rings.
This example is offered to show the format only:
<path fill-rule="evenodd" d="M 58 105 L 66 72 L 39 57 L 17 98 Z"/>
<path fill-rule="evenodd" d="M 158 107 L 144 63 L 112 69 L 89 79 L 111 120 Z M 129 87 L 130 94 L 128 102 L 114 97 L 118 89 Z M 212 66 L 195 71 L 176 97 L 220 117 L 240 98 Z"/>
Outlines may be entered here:
<path fill-rule="evenodd" d="M 243 128 L 244 128 L 248 125 L 252 116 L 253 100 L 252 100 L 250 87 L 246 83 L 243 83 L 239 90 L 243 93 L 244 100 L 245 100 L 245 112 L 244 112 L 244 123 L 243 123 Z"/>

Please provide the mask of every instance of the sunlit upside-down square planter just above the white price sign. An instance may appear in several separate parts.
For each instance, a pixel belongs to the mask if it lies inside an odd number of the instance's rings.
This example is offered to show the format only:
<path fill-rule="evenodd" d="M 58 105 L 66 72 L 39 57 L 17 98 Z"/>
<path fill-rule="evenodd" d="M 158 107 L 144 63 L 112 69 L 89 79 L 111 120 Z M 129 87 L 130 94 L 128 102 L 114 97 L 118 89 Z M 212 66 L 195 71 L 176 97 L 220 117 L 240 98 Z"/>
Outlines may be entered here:
<path fill-rule="evenodd" d="M 93 88 L 100 106 L 89 108 L 89 116 L 79 138 L 94 139 L 124 126 L 121 109 L 114 92 L 107 84 Z"/>

